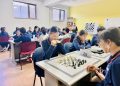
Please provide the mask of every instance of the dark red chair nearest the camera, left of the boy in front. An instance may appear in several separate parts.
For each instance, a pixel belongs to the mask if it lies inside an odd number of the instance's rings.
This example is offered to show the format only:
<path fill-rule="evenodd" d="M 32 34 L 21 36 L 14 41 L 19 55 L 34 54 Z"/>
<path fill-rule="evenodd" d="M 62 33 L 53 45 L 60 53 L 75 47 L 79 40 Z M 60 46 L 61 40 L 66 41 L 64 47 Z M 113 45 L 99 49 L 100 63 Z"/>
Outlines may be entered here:
<path fill-rule="evenodd" d="M 19 62 L 22 70 L 21 55 L 31 55 L 36 49 L 35 42 L 24 42 L 20 43 Z"/>

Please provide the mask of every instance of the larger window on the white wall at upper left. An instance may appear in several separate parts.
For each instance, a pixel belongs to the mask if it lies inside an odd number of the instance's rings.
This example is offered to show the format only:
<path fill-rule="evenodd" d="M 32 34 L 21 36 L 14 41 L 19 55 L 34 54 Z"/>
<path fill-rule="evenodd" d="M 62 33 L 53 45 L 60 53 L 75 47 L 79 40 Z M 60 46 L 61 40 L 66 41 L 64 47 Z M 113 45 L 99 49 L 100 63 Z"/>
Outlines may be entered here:
<path fill-rule="evenodd" d="M 14 1 L 13 7 L 15 18 L 36 19 L 36 5 Z"/>

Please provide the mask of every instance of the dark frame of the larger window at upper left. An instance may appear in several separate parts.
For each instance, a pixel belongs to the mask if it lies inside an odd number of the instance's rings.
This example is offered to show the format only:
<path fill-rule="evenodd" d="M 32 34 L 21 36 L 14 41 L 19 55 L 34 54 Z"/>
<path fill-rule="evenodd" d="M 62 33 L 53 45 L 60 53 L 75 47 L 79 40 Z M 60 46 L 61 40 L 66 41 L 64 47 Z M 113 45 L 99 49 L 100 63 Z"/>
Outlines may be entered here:
<path fill-rule="evenodd" d="M 13 14 L 14 18 L 16 18 L 16 19 L 37 19 L 37 5 L 36 4 L 31 4 L 31 3 L 22 2 L 22 1 L 13 1 L 13 3 L 14 2 L 23 3 L 23 4 L 26 4 L 28 6 L 28 18 L 15 17 Z M 35 18 L 30 18 L 30 5 L 35 6 Z M 14 5 L 13 5 L 13 13 L 14 13 Z"/>

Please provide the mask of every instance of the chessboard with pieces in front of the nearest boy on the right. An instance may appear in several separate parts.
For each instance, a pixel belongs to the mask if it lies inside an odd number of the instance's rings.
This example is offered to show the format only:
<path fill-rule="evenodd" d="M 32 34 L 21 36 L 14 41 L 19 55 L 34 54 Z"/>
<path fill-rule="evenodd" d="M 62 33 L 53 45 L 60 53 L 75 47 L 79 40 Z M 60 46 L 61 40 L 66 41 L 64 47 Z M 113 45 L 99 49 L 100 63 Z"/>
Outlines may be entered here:
<path fill-rule="evenodd" d="M 86 70 L 88 65 L 95 65 L 99 61 L 100 59 L 87 58 L 82 55 L 80 56 L 80 54 L 76 55 L 76 53 L 72 53 L 62 57 L 53 58 L 48 60 L 47 63 L 73 77 Z"/>

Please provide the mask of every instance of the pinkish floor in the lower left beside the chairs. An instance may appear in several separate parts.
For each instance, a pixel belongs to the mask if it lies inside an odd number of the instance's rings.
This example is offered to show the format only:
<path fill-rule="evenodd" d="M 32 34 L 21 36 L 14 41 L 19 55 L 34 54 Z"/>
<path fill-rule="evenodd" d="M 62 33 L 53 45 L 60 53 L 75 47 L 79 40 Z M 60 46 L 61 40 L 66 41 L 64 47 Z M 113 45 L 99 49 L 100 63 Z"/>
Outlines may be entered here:
<path fill-rule="evenodd" d="M 24 64 L 23 70 L 20 70 L 20 66 L 11 60 L 9 52 L 0 53 L 0 86 L 33 86 L 33 80 L 32 63 Z M 38 77 L 36 86 L 41 86 Z"/>

